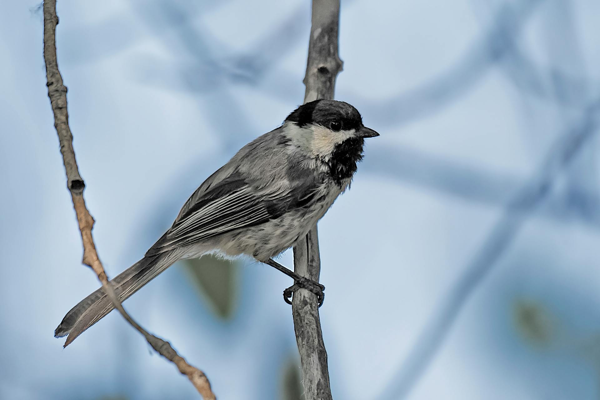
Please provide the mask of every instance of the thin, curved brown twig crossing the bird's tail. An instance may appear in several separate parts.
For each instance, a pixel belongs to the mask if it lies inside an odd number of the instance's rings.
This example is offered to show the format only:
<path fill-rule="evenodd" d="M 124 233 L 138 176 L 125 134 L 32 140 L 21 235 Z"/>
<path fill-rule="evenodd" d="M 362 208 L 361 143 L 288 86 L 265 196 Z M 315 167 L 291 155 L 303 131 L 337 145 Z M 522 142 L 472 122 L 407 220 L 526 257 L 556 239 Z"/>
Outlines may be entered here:
<path fill-rule="evenodd" d="M 138 332 L 146 338 L 146 341 L 157 351 L 161 356 L 165 357 L 170 362 L 174 363 L 179 372 L 186 375 L 191 383 L 196 387 L 200 395 L 205 400 L 214 400 L 215 395 L 212 393 L 211 384 L 206 378 L 206 375 L 188 364 L 185 359 L 169 344 L 161 338 L 148 333 L 143 329 L 129 314 L 125 311 L 121 302 L 113 290 L 109 280 L 104 272 L 104 267 L 98 258 L 94 238 L 92 237 L 92 228 L 94 227 L 94 218 L 90 215 L 85 206 L 83 199 L 83 188 L 85 183 L 79 175 L 77 160 L 73 150 L 73 135 L 68 124 L 67 113 L 67 88 L 62 83 L 62 76 L 58 69 L 58 61 L 56 59 L 56 25 L 58 25 L 58 16 L 56 15 L 56 0 L 44 0 L 44 61 L 46 62 L 46 79 L 48 86 L 48 97 L 52 105 L 54 113 L 54 126 L 58 139 L 61 145 L 62 160 L 67 173 L 67 188 L 71 192 L 73 199 L 73 207 L 79 222 L 79 230 L 81 232 L 83 242 L 83 264 L 88 265 L 94 270 L 98 279 L 102 283 L 104 293 L 112 301 L 116 309 L 121 312 L 121 315 L 131 324 Z M 66 344 L 65 344 L 66 345 Z"/>

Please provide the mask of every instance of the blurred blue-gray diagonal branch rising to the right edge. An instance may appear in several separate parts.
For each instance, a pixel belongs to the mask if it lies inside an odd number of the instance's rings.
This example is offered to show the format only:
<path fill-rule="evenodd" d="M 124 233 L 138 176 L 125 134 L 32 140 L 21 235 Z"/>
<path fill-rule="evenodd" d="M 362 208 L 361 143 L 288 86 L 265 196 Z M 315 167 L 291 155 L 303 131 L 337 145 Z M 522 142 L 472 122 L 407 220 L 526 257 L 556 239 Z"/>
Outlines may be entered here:
<path fill-rule="evenodd" d="M 418 342 L 379 398 L 401 399 L 409 395 L 443 345 L 446 335 L 473 291 L 490 274 L 530 213 L 551 193 L 560 172 L 569 167 L 578 152 L 595 135 L 599 111 L 600 98 L 586 107 L 576 125 L 559 136 L 535 176 L 509 202 L 500 220 L 467 264 L 465 272 L 446 295 L 439 311 L 419 335 Z"/>

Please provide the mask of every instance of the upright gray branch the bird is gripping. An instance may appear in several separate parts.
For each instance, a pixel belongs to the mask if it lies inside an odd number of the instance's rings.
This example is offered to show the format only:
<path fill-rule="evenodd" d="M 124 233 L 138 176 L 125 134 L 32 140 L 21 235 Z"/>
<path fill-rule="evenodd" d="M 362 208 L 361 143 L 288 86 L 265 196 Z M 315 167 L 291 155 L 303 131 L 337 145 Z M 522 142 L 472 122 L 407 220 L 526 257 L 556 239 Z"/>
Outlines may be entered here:
<path fill-rule="evenodd" d="M 339 17 L 340 0 L 313 0 L 304 103 L 319 98 L 334 98 L 335 78 L 342 67 L 338 57 Z M 294 246 L 294 270 L 299 275 L 319 281 L 321 261 L 316 225 Z M 292 316 L 302 363 L 305 397 L 307 400 L 331 399 L 327 351 L 316 294 L 305 289 L 296 291 L 292 301 Z"/>

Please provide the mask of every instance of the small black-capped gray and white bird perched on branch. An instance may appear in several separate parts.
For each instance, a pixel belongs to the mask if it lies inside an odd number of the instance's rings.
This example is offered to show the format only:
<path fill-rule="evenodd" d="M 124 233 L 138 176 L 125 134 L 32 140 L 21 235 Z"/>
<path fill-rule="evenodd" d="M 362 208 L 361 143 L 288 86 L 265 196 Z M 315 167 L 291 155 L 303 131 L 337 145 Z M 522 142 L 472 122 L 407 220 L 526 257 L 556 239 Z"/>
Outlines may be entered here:
<path fill-rule="evenodd" d="M 366 138 L 379 136 L 343 101 L 302 104 L 283 124 L 241 148 L 209 176 L 181 208 L 173 225 L 144 257 L 110 281 L 124 301 L 175 261 L 217 253 L 250 255 L 317 294 L 325 287 L 274 261 L 322 218 L 350 187 Z M 102 288 L 74 306 L 55 330 L 65 347 L 112 311 Z"/>

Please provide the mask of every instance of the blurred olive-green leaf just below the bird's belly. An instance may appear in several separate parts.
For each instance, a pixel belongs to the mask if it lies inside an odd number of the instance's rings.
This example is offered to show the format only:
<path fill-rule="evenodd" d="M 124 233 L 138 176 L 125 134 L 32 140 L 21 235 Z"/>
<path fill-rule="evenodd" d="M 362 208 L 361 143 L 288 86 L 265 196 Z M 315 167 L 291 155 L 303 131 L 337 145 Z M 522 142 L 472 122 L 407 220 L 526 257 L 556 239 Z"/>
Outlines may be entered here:
<path fill-rule="evenodd" d="M 218 317 L 232 317 L 238 299 L 239 263 L 214 255 L 185 260 L 185 269 Z"/>

